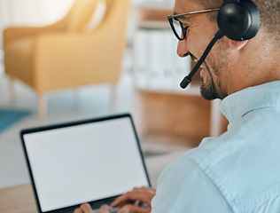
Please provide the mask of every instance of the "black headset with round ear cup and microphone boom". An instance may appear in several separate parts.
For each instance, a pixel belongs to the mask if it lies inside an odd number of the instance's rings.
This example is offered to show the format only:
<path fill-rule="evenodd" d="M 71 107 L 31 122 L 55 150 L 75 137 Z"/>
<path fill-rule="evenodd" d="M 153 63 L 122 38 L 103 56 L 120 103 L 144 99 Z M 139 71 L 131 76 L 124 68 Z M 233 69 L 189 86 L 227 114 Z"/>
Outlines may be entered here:
<path fill-rule="evenodd" d="M 191 73 L 185 76 L 180 83 L 183 89 L 191 83 L 192 76 L 198 71 L 214 43 L 223 36 L 227 36 L 234 41 L 249 40 L 256 36 L 261 28 L 261 13 L 257 5 L 251 0 L 223 0 L 217 22 L 218 32 L 206 47 L 206 51 L 204 51 L 196 66 L 193 67 Z"/>

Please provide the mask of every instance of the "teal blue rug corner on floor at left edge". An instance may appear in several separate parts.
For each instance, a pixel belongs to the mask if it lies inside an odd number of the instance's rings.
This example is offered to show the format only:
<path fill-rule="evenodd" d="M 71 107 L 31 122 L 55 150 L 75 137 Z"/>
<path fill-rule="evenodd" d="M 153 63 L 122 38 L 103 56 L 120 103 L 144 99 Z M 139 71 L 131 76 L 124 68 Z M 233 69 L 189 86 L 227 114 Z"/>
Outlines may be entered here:
<path fill-rule="evenodd" d="M 28 114 L 31 114 L 28 110 L 0 109 L 0 134 Z"/>

